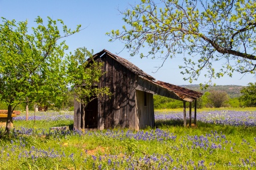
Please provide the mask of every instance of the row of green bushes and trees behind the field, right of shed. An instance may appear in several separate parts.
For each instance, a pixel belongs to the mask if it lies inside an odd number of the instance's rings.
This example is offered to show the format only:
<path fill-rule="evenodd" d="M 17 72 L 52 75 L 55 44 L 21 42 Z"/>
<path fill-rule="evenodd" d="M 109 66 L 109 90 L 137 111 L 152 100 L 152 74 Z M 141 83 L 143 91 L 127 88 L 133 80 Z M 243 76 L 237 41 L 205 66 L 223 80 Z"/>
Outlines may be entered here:
<path fill-rule="evenodd" d="M 231 98 L 227 92 L 212 90 L 204 92 L 203 96 L 197 100 L 197 108 L 220 108 L 220 107 L 256 107 L 256 83 L 249 83 L 243 87 L 240 97 Z M 188 107 L 189 103 L 187 103 Z M 175 109 L 182 108 L 183 101 L 154 95 L 155 109 Z"/>

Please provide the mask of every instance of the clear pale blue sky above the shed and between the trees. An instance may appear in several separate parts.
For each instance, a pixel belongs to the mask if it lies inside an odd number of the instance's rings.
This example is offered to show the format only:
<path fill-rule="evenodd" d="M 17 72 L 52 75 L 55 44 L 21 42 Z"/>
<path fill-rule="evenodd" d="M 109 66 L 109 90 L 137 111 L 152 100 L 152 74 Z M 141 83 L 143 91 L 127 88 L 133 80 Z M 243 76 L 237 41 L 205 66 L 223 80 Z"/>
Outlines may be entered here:
<path fill-rule="evenodd" d="M 137 0 L 136 0 L 137 1 Z M 138 1 L 137 1 L 138 2 Z M 127 50 L 123 50 L 124 44 L 121 41 L 109 42 L 106 32 L 112 29 L 121 29 L 125 24 L 119 10 L 129 8 L 129 3 L 135 4 L 135 0 L 109 0 L 109 1 L 3 1 L 0 0 L 0 16 L 16 21 L 28 20 L 30 27 L 35 26 L 34 20 L 41 16 L 45 21 L 47 16 L 52 19 L 62 19 L 69 28 L 76 28 L 81 24 L 83 31 L 67 37 L 66 44 L 69 46 L 68 52 L 73 52 L 76 48 L 85 46 L 93 49 L 94 53 L 107 49 L 120 57 L 128 59 L 146 73 L 154 76 L 158 80 L 176 85 L 190 84 L 183 80 L 184 75 L 180 74 L 179 65 L 183 65 L 183 56 L 167 59 L 164 66 L 156 73 L 156 67 L 162 65 L 160 59 L 141 59 L 138 56 L 130 57 Z M 121 52 L 122 51 L 122 52 Z M 121 52 L 121 53 L 120 53 Z M 216 69 L 220 68 L 221 63 L 217 63 Z M 204 83 L 207 79 L 202 74 L 199 80 L 192 84 Z M 252 75 L 234 74 L 232 78 L 224 76 L 221 79 L 214 79 L 217 85 L 241 85 L 246 86 L 249 82 L 255 82 Z"/>

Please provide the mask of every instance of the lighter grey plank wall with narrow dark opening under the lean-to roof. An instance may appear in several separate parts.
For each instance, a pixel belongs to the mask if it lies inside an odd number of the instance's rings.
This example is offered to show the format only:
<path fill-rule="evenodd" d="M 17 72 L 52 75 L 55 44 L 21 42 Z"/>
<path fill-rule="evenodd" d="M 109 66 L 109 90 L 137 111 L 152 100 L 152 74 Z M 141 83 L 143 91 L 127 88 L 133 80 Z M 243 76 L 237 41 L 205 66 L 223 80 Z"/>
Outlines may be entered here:
<path fill-rule="evenodd" d="M 153 94 L 136 90 L 137 113 L 139 119 L 139 129 L 154 126 L 154 101 Z"/>

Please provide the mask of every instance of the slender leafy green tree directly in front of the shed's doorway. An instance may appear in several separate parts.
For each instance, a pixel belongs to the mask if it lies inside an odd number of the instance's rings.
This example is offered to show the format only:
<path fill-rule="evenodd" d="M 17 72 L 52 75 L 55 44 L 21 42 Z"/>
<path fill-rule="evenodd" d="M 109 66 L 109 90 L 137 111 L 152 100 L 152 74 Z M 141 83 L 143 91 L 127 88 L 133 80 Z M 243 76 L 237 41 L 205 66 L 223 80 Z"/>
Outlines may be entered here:
<path fill-rule="evenodd" d="M 105 73 L 102 72 L 102 63 L 93 60 L 92 53 L 86 48 L 78 48 L 75 54 L 68 57 L 71 92 L 75 95 L 75 100 L 84 107 L 82 122 L 85 122 L 85 107 L 90 101 L 103 95 L 110 96 L 109 87 L 97 86 Z M 82 129 L 85 129 L 85 124 L 82 124 Z"/>

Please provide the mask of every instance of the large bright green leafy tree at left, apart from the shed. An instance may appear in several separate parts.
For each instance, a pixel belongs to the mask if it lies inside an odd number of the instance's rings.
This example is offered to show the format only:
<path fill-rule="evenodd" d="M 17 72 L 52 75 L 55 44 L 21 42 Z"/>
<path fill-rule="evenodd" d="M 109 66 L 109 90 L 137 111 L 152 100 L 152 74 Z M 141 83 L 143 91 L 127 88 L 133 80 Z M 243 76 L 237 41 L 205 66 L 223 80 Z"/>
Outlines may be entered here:
<path fill-rule="evenodd" d="M 58 97 L 67 88 L 62 59 L 68 46 L 58 40 L 79 32 L 81 25 L 71 31 L 62 20 L 48 18 L 44 24 L 38 16 L 35 22 L 38 27 L 32 27 L 31 34 L 27 21 L 16 23 L 2 18 L 0 23 L 0 100 L 8 107 L 6 133 L 16 105 Z"/>

